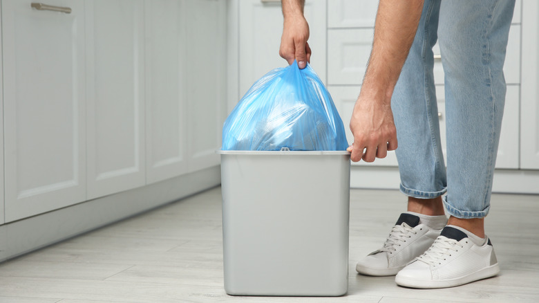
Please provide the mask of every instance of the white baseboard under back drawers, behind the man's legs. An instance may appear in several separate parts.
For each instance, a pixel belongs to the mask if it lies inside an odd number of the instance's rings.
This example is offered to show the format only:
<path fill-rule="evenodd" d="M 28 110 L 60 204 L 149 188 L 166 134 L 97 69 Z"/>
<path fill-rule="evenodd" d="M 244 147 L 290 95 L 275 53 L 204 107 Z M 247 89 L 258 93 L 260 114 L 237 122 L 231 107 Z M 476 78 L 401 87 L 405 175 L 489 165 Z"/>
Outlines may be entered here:
<path fill-rule="evenodd" d="M 350 174 L 352 188 L 399 189 L 398 167 L 352 165 Z M 539 194 L 539 170 L 496 169 L 492 191 L 507 194 Z"/>

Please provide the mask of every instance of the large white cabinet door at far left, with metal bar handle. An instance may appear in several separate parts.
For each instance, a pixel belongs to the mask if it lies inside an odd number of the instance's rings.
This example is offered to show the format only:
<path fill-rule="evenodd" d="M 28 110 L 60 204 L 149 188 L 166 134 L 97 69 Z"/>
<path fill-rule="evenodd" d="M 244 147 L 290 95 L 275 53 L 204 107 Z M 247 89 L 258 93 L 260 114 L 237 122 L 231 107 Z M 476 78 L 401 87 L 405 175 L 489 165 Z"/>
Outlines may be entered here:
<path fill-rule="evenodd" d="M 84 1 L 2 1 L 6 222 L 86 199 Z"/>

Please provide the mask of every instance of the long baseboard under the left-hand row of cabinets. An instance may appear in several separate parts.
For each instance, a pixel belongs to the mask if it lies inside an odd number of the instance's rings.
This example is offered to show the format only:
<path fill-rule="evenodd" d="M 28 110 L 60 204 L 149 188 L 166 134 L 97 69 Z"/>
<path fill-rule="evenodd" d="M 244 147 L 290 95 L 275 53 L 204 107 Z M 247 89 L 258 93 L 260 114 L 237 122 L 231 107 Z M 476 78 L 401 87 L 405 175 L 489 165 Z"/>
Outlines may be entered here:
<path fill-rule="evenodd" d="M 0 262 L 220 184 L 220 166 L 0 226 Z"/>

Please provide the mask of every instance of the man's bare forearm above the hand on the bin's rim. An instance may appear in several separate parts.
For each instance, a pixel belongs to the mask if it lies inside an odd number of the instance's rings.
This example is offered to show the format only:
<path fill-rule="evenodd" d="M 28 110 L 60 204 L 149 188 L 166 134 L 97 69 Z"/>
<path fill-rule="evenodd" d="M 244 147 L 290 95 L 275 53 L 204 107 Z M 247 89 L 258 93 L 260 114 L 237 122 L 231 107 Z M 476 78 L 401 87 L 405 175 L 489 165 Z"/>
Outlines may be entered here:
<path fill-rule="evenodd" d="M 380 1 L 375 39 L 363 79 L 362 93 L 390 102 L 402 66 L 412 46 L 423 3 L 423 0 Z"/>

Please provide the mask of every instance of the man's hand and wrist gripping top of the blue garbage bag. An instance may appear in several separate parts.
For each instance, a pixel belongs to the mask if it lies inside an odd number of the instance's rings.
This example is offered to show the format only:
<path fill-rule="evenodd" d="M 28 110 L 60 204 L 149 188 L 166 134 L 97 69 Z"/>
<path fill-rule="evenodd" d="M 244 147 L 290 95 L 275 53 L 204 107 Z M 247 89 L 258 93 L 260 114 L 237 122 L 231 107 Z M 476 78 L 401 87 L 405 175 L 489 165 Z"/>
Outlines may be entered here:
<path fill-rule="evenodd" d="M 303 17 L 305 0 L 282 0 L 281 3 L 284 24 L 279 55 L 285 58 L 288 64 L 292 64 L 296 59 L 299 68 L 305 68 L 311 58 L 311 48 L 307 43 L 309 24 Z"/>

